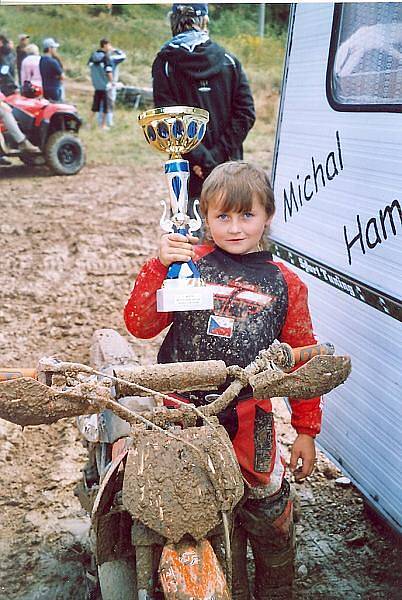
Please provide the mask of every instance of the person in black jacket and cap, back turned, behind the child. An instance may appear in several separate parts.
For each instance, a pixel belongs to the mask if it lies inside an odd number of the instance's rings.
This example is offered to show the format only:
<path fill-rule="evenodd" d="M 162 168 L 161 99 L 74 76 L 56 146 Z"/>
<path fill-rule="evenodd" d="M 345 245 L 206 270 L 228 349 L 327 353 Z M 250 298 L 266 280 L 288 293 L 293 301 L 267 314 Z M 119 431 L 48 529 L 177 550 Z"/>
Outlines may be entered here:
<path fill-rule="evenodd" d="M 152 65 L 154 104 L 209 112 L 203 142 L 184 157 L 190 162 L 191 205 L 214 167 L 243 158 L 255 108 L 240 61 L 209 38 L 207 4 L 173 4 L 170 24 L 174 37 Z"/>

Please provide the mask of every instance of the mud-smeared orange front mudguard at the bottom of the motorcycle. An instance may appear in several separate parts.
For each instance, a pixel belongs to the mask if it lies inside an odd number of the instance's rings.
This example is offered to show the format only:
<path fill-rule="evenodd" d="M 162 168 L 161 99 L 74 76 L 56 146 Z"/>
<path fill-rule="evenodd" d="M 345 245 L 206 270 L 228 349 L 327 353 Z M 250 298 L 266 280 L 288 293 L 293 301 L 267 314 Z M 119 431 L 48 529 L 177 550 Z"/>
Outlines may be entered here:
<path fill-rule="evenodd" d="M 166 600 L 230 600 L 222 567 L 207 540 L 166 544 L 159 563 Z"/>

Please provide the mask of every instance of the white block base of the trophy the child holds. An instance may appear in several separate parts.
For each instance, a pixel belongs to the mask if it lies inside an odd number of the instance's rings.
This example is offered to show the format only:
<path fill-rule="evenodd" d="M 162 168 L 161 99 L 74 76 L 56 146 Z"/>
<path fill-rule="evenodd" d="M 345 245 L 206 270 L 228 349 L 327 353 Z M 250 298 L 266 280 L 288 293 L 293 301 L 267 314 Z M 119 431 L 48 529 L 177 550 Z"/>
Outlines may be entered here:
<path fill-rule="evenodd" d="M 211 310 L 214 307 L 212 288 L 195 282 L 199 279 L 165 279 L 164 287 L 156 292 L 156 310 Z"/>

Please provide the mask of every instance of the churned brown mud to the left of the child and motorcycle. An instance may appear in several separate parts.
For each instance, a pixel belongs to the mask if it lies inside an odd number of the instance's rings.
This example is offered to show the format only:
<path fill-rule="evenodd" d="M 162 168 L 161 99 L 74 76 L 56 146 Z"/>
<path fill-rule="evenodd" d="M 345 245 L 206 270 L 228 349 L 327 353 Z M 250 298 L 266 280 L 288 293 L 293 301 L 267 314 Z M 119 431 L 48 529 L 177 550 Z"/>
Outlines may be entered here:
<path fill-rule="evenodd" d="M 125 333 L 122 307 L 152 251 L 163 178 L 155 168 L 145 189 L 122 168 L 32 179 L 10 170 L 15 179 L 0 182 L 2 363 L 87 362 L 95 329 Z M 138 354 L 154 361 L 149 345 Z M 23 432 L 0 421 L 0 438 L 0 597 L 85 598 L 89 520 L 73 489 L 86 452 L 73 420 Z"/>

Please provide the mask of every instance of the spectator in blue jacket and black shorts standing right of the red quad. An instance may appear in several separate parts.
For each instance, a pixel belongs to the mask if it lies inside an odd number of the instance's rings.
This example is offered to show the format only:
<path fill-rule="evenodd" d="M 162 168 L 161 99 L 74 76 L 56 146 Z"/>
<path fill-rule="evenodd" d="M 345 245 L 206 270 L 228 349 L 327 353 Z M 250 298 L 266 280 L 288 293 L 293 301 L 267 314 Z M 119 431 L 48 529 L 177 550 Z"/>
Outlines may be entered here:
<path fill-rule="evenodd" d="M 94 87 L 92 101 L 92 114 L 98 113 L 98 122 L 101 129 L 109 129 L 106 116 L 110 112 L 108 90 L 113 85 L 113 66 L 109 58 L 112 44 L 106 38 L 99 42 L 99 49 L 92 52 L 88 60 L 91 81 Z"/>

